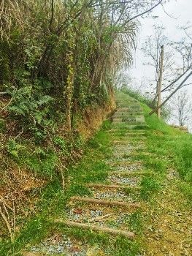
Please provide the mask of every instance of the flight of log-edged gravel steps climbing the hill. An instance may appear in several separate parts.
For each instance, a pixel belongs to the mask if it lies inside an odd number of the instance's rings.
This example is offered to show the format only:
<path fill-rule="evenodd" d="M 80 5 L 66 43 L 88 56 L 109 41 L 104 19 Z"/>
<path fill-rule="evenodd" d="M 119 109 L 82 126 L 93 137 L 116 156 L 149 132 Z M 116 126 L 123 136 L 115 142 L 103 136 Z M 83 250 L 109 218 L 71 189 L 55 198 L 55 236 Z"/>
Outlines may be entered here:
<path fill-rule="evenodd" d="M 73 196 L 66 208 L 66 217 L 55 219 L 66 227 L 107 233 L 112 236 L 135 237 L 126 220 L 141 207 L 138 195 L 142 177 L 147 170 L 142 161 L 134 159 L 145 149 L 145 118 L 136 99 L 117 95 L 118 108 L 112 116 L 112 157 L 106 159 L 111 171 L 104 183 L 85 186 L 91 196 Z M 66 252 L 66 251 L 64 251 Z M 67 251 L 66 255 L 74 255 Z M 79 255 L 79 254 L 77 254 Z M 87 254 L 85 254 L 87 255 Z"/>

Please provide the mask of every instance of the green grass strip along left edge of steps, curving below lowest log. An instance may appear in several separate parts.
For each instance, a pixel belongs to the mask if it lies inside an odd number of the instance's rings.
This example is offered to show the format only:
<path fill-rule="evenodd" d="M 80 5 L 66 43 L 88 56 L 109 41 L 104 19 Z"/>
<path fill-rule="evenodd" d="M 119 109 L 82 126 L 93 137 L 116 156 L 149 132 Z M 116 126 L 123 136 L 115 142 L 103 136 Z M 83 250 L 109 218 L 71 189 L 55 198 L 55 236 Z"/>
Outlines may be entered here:
<path fill-rule="evenodd" d="M 14 244 L 9 240 L 0 241 L 0 255 L 19 255 L 20 249 L 26 244 L 36 244 L 46 238 L 54 231 L 61 231 L 66 235 L 79 238 L 81 241 L 93 245 L 99 244 L 101 247 L 107 247 L 110 255 L 125 255 L 127 247 L 130 249 L 133 244 L 125 241 L 124 248 L 121 247 L 122 240 L 114 238 L 112 243 L 110 236 L 91 233 L 91 231 L 82 231 L 78 228 L 66 228 L 65 225 L 54 224 L 53 217 L 64 217 L 65 207 L 68 198 L 72 195 L 90 195 L 91 191 L 85 187 L 85 183 L 104 182 L 107 173 L 110 170 L 109 165 L 104 162 L 108 159 L 112 151 L 110 150 L 110 137 L 106 129 L 110 128 L 110 122 L 104 122 L 104 126 L 94 138 L 88 141 L 85 146 L 84 157 L 75 165 L 69 167 L 67 176 L 70 176 L 70 184 L 66 184 L 66 191 L 62 191 L 61 181 L 55 178 L 45 189 L 37 203 L 37 209 L 40 209 L 33 216 L 26 219 L 20 233 L 17 234 Z M 21 224 L 21 222 L 20 222 Z M 138 252 L 136 245 L 134 251 Z M 134 254 L 133 254 L 134 255 Z"/>

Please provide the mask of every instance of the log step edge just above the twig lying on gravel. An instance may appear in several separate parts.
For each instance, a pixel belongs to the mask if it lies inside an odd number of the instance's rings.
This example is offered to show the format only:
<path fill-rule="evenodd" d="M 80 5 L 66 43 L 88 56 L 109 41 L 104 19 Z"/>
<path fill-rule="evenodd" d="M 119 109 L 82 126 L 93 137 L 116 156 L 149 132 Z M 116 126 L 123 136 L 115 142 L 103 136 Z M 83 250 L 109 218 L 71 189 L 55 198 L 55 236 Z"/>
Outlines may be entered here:
<path fill-rule="evenodd" d="M 122 201 L 112 201 L 112 200 L 104 200 L 104 199 L 96 199 L 94 197 L 79 197 L 74 196 L 70 198 L 71 201 L 80 201 L 85 203 L 96 203 L 99 205 L 105 206 L 123 206 L 126 208 L 138 208 L 140 206 L 139 203 L 127 203 Z"/>

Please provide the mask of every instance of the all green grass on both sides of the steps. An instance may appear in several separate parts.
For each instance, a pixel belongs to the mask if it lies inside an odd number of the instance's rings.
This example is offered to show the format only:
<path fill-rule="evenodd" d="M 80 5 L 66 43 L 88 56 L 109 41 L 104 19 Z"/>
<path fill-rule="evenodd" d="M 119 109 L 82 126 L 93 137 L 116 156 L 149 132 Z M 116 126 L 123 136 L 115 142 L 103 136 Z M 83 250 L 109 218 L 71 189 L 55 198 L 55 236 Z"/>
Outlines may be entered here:
<path fill-rule="evenodd" d="M 123 94 L 123 97 L 126 99 L 126 94 Z M 145 169 L 152 172 L 153 175 L 149 174 L 142 178 L 140 192 L 125 189 L 126 194 L 132 195 L 136 200 L 154 203 L 153 198 L 164 188 L 167 170 L 172 168 L 177 170 L 180 175 L 180 179 L 177 181 L 178 189 L 186 198 L 191 198 L 192 136 L 169 127 L 155 114 L 148 116 L 150 108 L 143 103 L 141 105 L 145 112 L 147 127 L 138 126 L 134 131 L 143 129 L 145 138 L 147 138 L 145 144 L 150 154 L 145 155 L 145 152 L 138 151 L 139 155 L 132 159 L 142 159 Z M 20 250 L 27 244 L 39 243 L 54 232 L 65 233 L 90 246 L 99 245 L 108 255 L 134 256 L 139 254 L 143 246 L 140 236 L 142 236 L 143 222 L 145 222 L 142 211 L 136 211 L 126 219 L 128 228 L 135 230 L 139 235 L 135 241 L 129 241 L 120 236 L 112 237 L 102 233 L 92 233 L 90 230 L 67 228 L 63 224 L 55 224 L 52 221 L 54 217 L 65 217 L 66 203 L 72 195 L 92 196 L 91 190 L 85 184 L 89 182 L 106 183 L 108 173 L 112 170 L 112 167 L 106 163 L 106 160 L 112 157 L 111 141 L 123 139 L 128 132 L 126 127 L 120 127 L 119 131 L 114 134 L 107 132 L 111 128 L 110 121 L 104 122 L 99 132 L 86 143 L 82 159 L 69 166 L 64 173 L 66 178 L 64 192 L 61 180 L 53 174 L 58 155 L 53 155 L 49 148 L 47 151 L 41 151 L 39 148 L 39 151 L 23 154 L 26 156 L 28 166 L 34 168 L 34 171 L 40 170 L 40 172 L 47 173 L 47 176 L 52 177 L 52 181 L 42 190 L 39 201 L 35 205 L 34 214 L 32 213 L 24 222 L 23 219 L 18 220 L 21 229 L 20 233 L 17 233 L 15 243 L 10 244 L 7 238 L 0 240 L 0 255 L 19 255 Z M 139 138 L 142 140 L 142 136 L 135 135 L 134 140 L 137 141 Z M 65 151 L 64 141 L 61 138 L 55 140 L 61 150 Z M 129 154 L 124 157 L 129 157 Z M 24 157 L 21 159 L 24 161 Z"/>

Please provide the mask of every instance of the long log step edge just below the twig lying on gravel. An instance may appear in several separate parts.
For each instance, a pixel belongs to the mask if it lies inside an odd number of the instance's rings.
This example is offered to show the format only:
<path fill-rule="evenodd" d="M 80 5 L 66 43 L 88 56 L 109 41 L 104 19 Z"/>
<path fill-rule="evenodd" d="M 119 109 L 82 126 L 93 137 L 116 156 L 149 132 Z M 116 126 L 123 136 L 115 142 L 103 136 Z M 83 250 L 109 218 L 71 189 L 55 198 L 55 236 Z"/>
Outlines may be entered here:
<path fill-rule="evenodd" d="M 80 227 L 85 230 L 93 230 L 93 231 L 99 231 L 103 233 L 110 233 L 115 236 L 125 236 L 126 238 L 133 239 L 135 234 L 131 231 L 125 231 L 125 230 L 118 230 L 115 228 L 110 228 L 110 227 L 100 227 L 96 225 L 89 225 L 85 223 L 80 223 L 80 222 L 72 222 L 64 219 L 55 219 L 55 223 L 62 223 L 64 225 L 67 225 L 69 227 Z"/>

